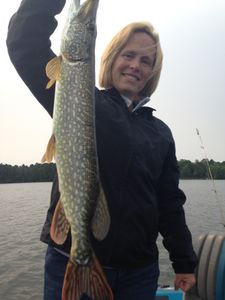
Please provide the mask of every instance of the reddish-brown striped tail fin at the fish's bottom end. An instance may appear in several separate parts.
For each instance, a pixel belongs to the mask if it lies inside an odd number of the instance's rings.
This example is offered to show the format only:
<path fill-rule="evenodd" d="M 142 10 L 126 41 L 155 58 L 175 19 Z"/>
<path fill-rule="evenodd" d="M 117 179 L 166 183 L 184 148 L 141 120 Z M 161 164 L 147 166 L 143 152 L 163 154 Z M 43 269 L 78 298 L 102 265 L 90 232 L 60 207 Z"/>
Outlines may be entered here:
<path fill-rule="evenodd" d="M 62 300 L 79 300 L 86 294 L 93 300 L 113 300 L 103 270 L 94 256 L 87 265 L 69 260 L 62 290 Z"/>

